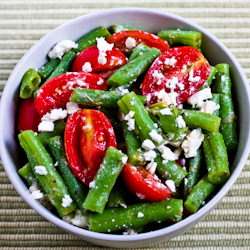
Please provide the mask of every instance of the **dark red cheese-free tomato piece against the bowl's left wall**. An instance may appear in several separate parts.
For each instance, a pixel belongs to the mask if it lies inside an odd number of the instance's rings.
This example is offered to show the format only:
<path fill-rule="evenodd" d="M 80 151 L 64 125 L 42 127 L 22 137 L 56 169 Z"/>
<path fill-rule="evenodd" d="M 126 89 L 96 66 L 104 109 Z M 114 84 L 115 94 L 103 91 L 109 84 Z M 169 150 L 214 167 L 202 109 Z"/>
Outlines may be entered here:
<path fill-rule="evenodd" d="M 33 130 L 37 132 L 38 124 L 41 121 L 35 109 L 35 99 L 33 97 L 22 100 L 18 113 L 18 130 Z"/>

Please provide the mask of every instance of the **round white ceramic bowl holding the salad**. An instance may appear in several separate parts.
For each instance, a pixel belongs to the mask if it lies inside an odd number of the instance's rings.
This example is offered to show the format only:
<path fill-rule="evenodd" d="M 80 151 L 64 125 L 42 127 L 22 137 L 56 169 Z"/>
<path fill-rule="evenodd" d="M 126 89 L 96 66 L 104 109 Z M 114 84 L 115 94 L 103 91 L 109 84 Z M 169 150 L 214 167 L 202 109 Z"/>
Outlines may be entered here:
<path fill-rule="evenodd" d="M 231 68 L 233 81 L 233 95 L 237 103 L 239 146 L 233 160 L 230 179 L 220 191 L 197 213 L 188 218 L 163 229 L 138 235 L 113 235 L 95 233 L 70 225 L 39 202 L 33 200 L 29 191 L 17 174 L 20 162 L 17 157 L 16 110 L 18 105 L 18 88 L 24 72 L 29 68 L 39 68 L 46 61 L 50 48 L 58 41 L 64 39 L 77 40 L 79 37 L 97 26 L 110 26 L 112 24 L 127 24 L 139 27 L 145 31 L 154 32 L 180 28 L 197 30 L 203 33 L 202 51 L 211 65 L 228 63 Z M 0 152 L 5 171 L 10 181 L 23 197 L 40 215 L 57 226 L 95 244 L 110 247 L 140 247 L 171 239 L 185 232 L 188 228 L 200 221 L 209 211 L 219 203 L 239 176 L 249 154 L 250 132 L 250 96 L 249 86 L 240 65 L 228 49 L 200 26 L 191 23 L 179 16 L 152 11 L 141 8 L 119 8 L 96 12 L 81 16 L 53 30 L 37 42 L 19 61 L 4 89 L 1 99 L 0 112 Z"/>

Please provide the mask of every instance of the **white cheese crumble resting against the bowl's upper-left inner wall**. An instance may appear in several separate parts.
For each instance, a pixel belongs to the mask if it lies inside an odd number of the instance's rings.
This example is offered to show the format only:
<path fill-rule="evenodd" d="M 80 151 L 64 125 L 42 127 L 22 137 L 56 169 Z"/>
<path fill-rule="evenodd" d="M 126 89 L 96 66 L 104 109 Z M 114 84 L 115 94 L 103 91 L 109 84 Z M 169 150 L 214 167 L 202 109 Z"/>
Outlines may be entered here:
<path fill-rule="evenodd" d="M 50 59 L 59 58 L 62 59 L 63 55 L 71 49 L 76 49 L 78 44 L 71 40 L 63 40 L 57 43 L 53 49 L 49 52 L 48 56 Z"/>

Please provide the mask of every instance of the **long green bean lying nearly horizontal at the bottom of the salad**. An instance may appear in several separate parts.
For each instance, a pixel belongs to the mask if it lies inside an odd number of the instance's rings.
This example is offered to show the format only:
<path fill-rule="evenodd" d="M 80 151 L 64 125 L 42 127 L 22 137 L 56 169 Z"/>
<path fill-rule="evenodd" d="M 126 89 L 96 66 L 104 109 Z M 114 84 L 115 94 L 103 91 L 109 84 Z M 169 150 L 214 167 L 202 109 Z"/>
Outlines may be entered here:
<path fill-rule="evenodd" d="M 127 208 L 109 208 L 102 214 L 89 216 L 89 224 L 95 232 L 113 232 L 127 228 L 137 228 L 152 222 L 180 221 L 183 202 L 167 199 L 160 202 L 139 203 Z"/>

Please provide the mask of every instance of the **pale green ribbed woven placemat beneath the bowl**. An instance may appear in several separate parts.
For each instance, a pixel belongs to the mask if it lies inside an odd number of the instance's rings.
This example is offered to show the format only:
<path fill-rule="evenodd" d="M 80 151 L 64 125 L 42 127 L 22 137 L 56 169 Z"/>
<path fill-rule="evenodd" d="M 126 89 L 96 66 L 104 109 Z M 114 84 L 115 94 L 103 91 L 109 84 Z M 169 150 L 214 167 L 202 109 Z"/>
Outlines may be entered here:
<path fill-rule="evenodd" d="M 159 9 L 202 25 L 231 50 L 250 79 L 249 0 L 1 0 L 0 3 L 0 93 L 18 60 L 47 32 L 80 15 L 125 6 Z M 151 249 L 250 249 L 249 179 L 250 160 L 231 191 L 209 216 L 184 235 Z M 19 197 L 0 165 L 0 249 L 35 247 L 104 249 L 44 220 Z"/>

